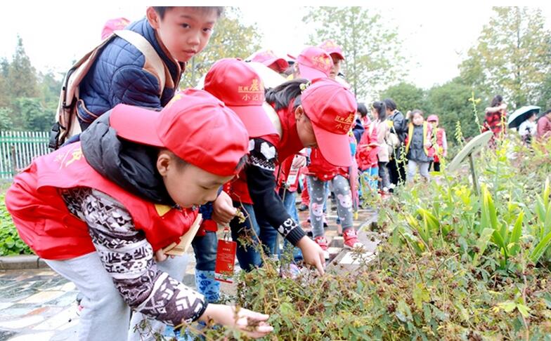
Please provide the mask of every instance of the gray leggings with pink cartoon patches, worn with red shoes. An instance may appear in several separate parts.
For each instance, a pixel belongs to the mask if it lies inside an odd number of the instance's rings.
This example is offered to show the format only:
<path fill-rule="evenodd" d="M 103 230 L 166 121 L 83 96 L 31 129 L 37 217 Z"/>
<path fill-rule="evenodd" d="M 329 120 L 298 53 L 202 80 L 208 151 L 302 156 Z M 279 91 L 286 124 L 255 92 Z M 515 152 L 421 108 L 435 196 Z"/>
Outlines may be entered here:
<path fill-rule="evenodd" d="M 352 193 L 348 179 L 342 175 L 337 175 L 332 180 L 333 192 L 337 199 L 337 215 L 341 220 L 342 230 L 345 231 L 353 225 L 354 215 L 352 213 Z M 312 233 L 314 238 L 323 236 L 323 205 L 327 196 L 325 195 L 325 181 L 319 180 L 313 175 L 308 175 L 308 184 L 310 192 L 310 221 L 312 224 Z"/>

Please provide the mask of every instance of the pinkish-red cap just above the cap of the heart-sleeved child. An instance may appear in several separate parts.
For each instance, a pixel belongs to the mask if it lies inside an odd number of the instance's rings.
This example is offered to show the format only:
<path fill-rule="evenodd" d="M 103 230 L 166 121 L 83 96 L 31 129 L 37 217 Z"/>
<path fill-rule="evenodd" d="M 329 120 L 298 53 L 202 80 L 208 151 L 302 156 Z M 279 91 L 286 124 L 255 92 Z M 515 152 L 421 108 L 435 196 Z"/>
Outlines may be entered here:
<path fill-rule="evenodd" d="M 301 78 L 311 81 L 316 78 L 327 78 L 333 67 L 333 61 L 323 49 L 316 46 L 304 48 L 298 58 L 289 55 L 297 60 Z"/>

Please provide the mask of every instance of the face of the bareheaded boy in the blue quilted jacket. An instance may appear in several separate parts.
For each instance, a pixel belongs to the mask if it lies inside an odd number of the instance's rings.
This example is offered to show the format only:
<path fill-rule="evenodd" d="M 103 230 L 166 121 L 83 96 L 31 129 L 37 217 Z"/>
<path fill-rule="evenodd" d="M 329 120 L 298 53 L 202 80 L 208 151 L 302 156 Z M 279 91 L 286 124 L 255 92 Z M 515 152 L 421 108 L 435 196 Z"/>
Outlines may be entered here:
<path fill-rule="evenodd" d="M 169 8 L 162 19 L 153 7 L 149 7 L 147 15 L 162 44 L 179 62 L 187 62 L 207 46 L 218 20 L 216 11 L 190 7 Z"/>

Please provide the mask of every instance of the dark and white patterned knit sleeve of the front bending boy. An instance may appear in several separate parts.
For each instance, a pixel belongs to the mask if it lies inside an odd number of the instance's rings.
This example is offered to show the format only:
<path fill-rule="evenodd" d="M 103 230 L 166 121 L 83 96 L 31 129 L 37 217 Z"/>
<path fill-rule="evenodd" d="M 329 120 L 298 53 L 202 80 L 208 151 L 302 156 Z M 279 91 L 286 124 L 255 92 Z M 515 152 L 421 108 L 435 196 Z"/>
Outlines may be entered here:
<path fill-rule="evenodd" d="M 205 298 L 157 269 L 153 248 L 121 203 L 96 189 L 63 192 L 70 212 L 84 220 L 103 266 L 128 305 L 172 326 L 199 319 Z"/>

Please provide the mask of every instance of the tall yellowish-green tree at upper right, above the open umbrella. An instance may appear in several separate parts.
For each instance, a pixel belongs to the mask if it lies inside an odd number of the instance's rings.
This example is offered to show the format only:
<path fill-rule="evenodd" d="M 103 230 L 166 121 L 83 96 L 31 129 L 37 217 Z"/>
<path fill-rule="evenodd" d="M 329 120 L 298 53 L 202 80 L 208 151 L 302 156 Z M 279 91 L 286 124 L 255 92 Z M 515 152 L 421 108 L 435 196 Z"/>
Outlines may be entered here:
<path fill-rule="evenodd" d="M 551 33 L 540 8 L 494 7 L 477 45 L 460 64 L 472 86 L 501 93 L 513 105 L 538 102 L 540 84 L 551 71 Z"/>

